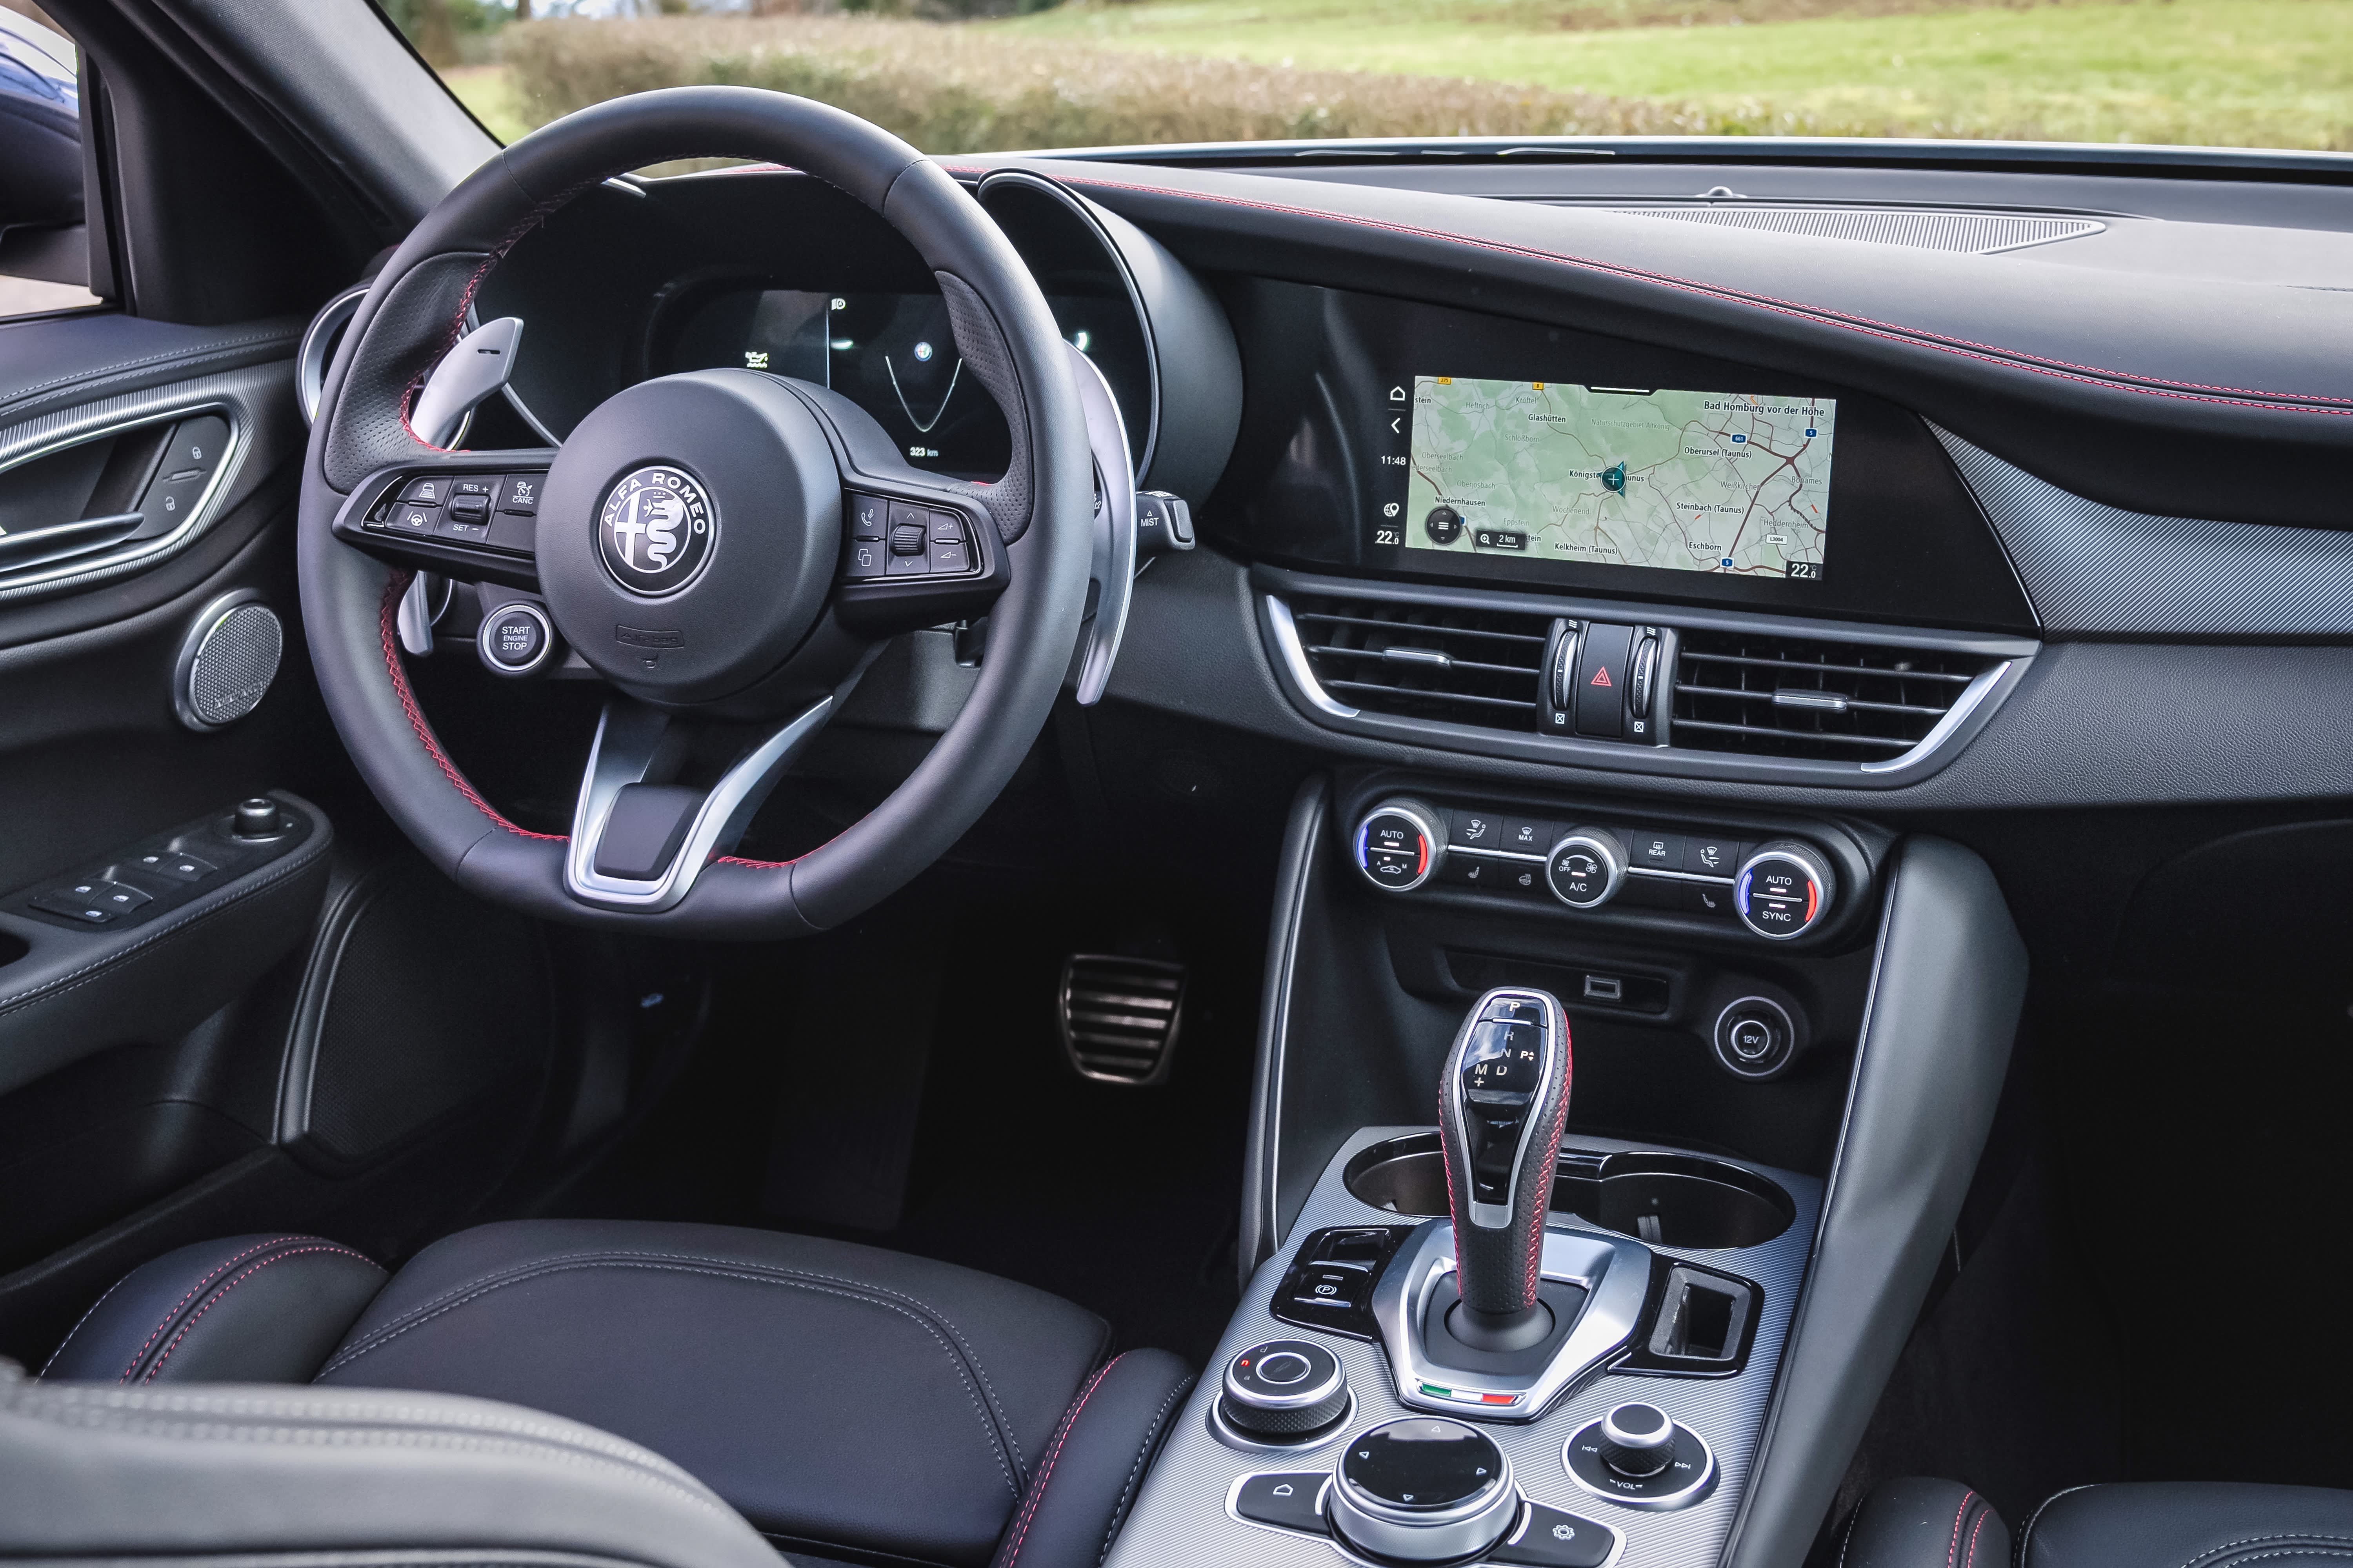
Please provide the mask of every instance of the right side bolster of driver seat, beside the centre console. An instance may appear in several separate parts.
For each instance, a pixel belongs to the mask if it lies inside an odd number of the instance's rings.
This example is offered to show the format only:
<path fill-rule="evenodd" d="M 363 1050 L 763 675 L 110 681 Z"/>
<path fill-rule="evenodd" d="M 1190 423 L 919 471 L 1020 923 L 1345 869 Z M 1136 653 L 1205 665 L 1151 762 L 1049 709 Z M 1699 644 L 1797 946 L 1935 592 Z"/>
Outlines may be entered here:
<path fill-rule="evenodd" d="M 1127 1351 L 1087 1380 L 1054 1427 L 995 1568 L 1099 1563 L 1191 1387 L 1193 1368 L 1167 1351 Z"/>

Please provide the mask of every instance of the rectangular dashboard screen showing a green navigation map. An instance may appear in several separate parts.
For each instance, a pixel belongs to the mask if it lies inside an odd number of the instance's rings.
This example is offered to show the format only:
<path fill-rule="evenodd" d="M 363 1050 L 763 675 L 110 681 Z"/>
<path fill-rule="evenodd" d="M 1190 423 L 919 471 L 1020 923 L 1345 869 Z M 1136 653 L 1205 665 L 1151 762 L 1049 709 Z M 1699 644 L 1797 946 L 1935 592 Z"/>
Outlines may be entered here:
<path fill-rule="evenodd" d="M 1819 582 L 1835 417 L 1833 398 L 1417 374 L 1402 516 L 1377 542 Z"/>

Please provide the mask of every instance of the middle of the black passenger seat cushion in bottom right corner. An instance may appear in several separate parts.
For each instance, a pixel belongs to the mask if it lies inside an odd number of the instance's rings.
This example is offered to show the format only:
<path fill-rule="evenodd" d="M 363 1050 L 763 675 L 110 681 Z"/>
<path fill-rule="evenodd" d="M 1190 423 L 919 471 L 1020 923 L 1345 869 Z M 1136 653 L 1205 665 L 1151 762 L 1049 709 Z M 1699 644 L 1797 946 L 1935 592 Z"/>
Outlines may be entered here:
<path fill-rule="evenodd" d="M 2346 1568 L 2353 1493 L 2134 1481 L 2059 1493 L 2026 1521 L 2019 1568 Z"/>

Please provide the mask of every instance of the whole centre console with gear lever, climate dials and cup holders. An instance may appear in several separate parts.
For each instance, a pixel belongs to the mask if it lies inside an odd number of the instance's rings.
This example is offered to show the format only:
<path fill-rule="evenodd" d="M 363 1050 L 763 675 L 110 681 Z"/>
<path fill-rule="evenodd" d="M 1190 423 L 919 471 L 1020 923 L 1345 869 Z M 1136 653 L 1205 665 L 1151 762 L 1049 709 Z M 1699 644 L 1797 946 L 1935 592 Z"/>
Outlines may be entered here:
<path fill-rule="evenodd" d="M 1362 770 L 1275 913 L 1242 1304 L 1106 1566 L 1795 1568 L 2007 1067 L 1984 864 Z"/>

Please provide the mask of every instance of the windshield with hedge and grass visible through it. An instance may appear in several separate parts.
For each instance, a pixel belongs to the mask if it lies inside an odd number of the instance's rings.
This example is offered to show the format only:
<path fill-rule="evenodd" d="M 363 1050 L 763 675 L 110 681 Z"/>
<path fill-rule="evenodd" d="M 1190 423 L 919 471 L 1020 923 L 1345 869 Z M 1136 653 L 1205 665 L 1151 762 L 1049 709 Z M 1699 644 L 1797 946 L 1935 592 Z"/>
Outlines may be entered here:
<path fill-rule="evenodd" d="M 1346 137 L 2353 148 L 2353 0 L 381 0 L 496 137 L 645 87 L 927 153 Z"/>

